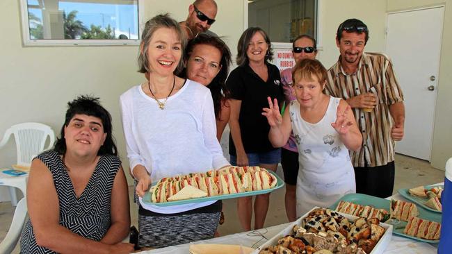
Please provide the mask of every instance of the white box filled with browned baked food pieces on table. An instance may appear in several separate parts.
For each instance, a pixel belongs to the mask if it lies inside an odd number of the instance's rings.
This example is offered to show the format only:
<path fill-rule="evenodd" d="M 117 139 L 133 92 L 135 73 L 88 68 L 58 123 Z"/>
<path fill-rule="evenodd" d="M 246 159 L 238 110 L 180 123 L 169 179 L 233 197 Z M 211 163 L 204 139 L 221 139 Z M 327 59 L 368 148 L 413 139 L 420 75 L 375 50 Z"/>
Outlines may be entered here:
<path fill-rule="evenodd" d="M 303 233 L 300 233 L 300 235 L 298 235 L 299 232 L 305 232 L 304 234 L 306 234 L 306 230 L 303 229 L 303 223 L 304 223 L 303 221 L 304 221 L 305 218 L 308 218 L 308 221 L 312 220 L 312 219 L 309 219 L 309 218 L 311 218 L 312 214 L 316 213 L 316 210 L 319 210 L 319 209 L 320 210 L 325 210 L 325 211 L 326 210 L 330 210 L 330 209 L 318 208 L 318 207 L 312 208 L 312 210 L 310 210 L 309 212 L 304 214 L 302 217 L 300 217 L 300 219 L 297 219 L 296 221 L 293 221 L 292 223 L 289 223 L 289 226 L 287 226 L 284 230 L 282 230 L 277 235 L 275 235 L 274 237 L 269 239 L 266 243 L 264 243 L 261 246 L 259 246 L 259 248 L 257 248 L 252 254 L 266 253 L 267 251 L 270 251 L 271 248 L 274 248 L 274 246 L 277 246 L 279 244 L 284 244 L 284 238 L 288 237 L 289 235 L 293 235 L 293 233 L 295 231 L 296 231 L 295 232 L 295 234 L 296 234 L 295 237 L 300 237 L 300 239 L 301 238 L 305 238 L 305 235 L 302 235 Z M 332 211 L 332 210 L 330 210 L 330 211 Z M 327 214 L 328 214 L 328 212 L 327 212 Z M 317 217 L 317 215 L 314 215 L 314 217 L 312 217 L 312 218 L 314 219 L 316 217 Z M 352 215 L 349 215 L 349 214 L 344 214 L 344 213 L 341 213 L 341 212 L 336 212 L 336 214 L 334 215 L 334 218 L 336 218 L 336 217 L 342 217 L 342 218 L 345 217 L 346 220 L 350 221 L 350 226 L 352 226 L 351 223 L 355 223 L 355 221 L 360 219 L 359 217 L 355 217 L 355 216 L 352 216 Z M 328 219 L 328 221 L 330 219 L 332 219 L 332 218 L 333 218 L 333 214 L 331 213 L 331 217 Z M 314 220 L 318 221 L 317 219 L 314 219 Z M 307 224 L 310 224 L 310 222 L 311 221 L 309 221 Z M 320 223 L 320 221 L 318 221 L 318 223 Z M 328 225 L 328 223 L 329 222 L 325 223 L 325 225 Z M 364 220 L 364 223 L 368 223 L 368 222 Z M 339 227 L 342 227 L 342 226 L 339 226 Z M 380 234 L 379 234 L 380 236 L 378 237 L 378 239 L 376 239 L 375 242 L 373 242 L 374 245 L 373 245 L 373 247 L 371 248 L 371 251 L 368 254 L 385 253 L 385 249 L 387 248 L 389 242 L 391 242 L 393 226 L 389 225 L 387 223 L 381 223 L 380 222 L 380 223 L 378 223 L 377 227 L 380 228 Z M 315 228 L 315 225 L 314 225 L 314 228 Z M 355 227 L 352 227 L 352 229 L 353 228 L 355 228 Z M 382 231 L 382 228 L 384 228 L 384 232 Z M 328 232 L 331 232 L 331 231 L 328 230 Z M 348 234 L 350 234 L 350 232 Z M 329 244 L 327 244 L 327 242 L 330 242 L 330 243 L 332 242 L 331 239 L 328 238 L 328 237 L 330 237 L 330 235 L 329 235 L 330 233 L 325 234 L 324 232 L 318 232 L 318 233 L 315 233 L 315 235 L 316 235 L 315 237 L 321 237 L 321 233 L 323 233 L 323 235 L 328 235 L 328 236 L 326 236 L 326 239 L 328 239 L 328 240 L 325 242 L 325 245 L 320 245 L 320 246 L 325 246 L 328 249 L 328 247 L 330 247 L 330 246 L 329 246 Z M 312 234 L 312 233 L 309 233 L 309 231 L 308 231 L 307 234 L 309 235 L 309 234 Z M 339 234 L 341 234 L 341 233 L 339 233 Z M 355 235 L 357 236 L 357 233 L 355 233 Z M 350 237 L 350 235 L 348 237 Z M 352 237 L 353 237 L 353 235 L 352 235 Z M 368 237 L 370 237 L 370 235 Z M 289 241 L 293 241 L 293 244 L 296 245 L 295 241 L 298 241 L 297 239 L 298 238 L 296 238 L 296 240 L 289 240 Z M 308 239 L 308 238 L 306 237 L 305 239 Z M 336 239 L 341 239 L 341 237 L 336 238 Z M 344 238 L 344 240 L 345 240 L 345 238 Z M 370 240 L 370 238 L 369 238 L 369 240 Z M 315 244 L 315 242 L 318 242 L 318 241 L 319 241 L 318 238 L 317 238 L 317 241 L 314 239 L 314 244 Z M 335 240 L 335 241 L 337 241 L 337 240 Z M 303 242 L 305 242 L 305 241 L 303 241 Z M 309 242 L 309 241 L 307 241 L 307 242 Z M 341 240 L 339 240 L 339 242 L 341 242 Z M 350 242 L 350 244 L 352 244 L 352 242 Z M 305 246 L 308 247 L 308 245 L 305 245 Z M 356 244 L 355 244 L 355 246 L 356 246 Z M 348 247 L 347 248 L 341 248 L 340 251 L 339 251 L 339 247 L 338 246 L 336 248 L 334 248 L 334 249 L 336 249 L 336 251 L 334 253 L 348 253 L 348 251 L 350 251 L 350 250 L 348 250 Z M 357 248 L 360 249 L 360 247 L 357 247 Z M 306 248 L 306 250 L 307 250 L 307 248 Z M 315 251 L 318 252 L 318 253 L 331 253 L 331 252 L 328 252 L 328 251 L 325 252 L 325 250 L 318 250 L 318 249 L 316 249 Z M 357 250 L 355 248 L 355 252 L 356 251 Z M 277 253 L 284 253 L 284 249 L 280 248 Z"/>

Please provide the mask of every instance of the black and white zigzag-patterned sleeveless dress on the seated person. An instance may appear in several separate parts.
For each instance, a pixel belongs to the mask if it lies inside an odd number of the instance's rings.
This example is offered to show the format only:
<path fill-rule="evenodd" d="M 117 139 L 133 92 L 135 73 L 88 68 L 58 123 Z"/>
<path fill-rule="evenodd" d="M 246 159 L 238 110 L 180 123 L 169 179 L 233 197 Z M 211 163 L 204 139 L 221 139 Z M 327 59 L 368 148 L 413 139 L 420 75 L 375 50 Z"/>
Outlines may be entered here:
<path fill-rule="evenodd" d="M 77 235 L 100 241 L 111 224 L 111 189 L 121 165 L 119 158 L 114 155 L 101 156 L 79 198 L 76 198 L 71 178 L 56 151 L 45 151 L 37 158 L 44 162 L 54 178 L 60 205 L 60 225 Z M 54 253 L 36 244 L 30 219 L 22 230 L 20 248 L 21 253 Z"/>

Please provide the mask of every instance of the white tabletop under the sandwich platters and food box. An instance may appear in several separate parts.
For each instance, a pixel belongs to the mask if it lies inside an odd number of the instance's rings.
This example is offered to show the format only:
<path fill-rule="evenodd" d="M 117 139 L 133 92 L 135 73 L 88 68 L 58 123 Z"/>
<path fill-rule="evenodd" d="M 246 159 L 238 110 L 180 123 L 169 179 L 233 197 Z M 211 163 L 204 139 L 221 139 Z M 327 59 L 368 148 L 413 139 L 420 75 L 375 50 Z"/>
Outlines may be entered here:
<path fill-rule="evenodd" d="M 389 198 L 405 200 L 405 198 L 403 198 L 403 196 L 401 196 L 400 194 L 395 194 L 393 196 L 390 196 Z M 267 241 L 267 239 L 271 239 L 271 237 L 273 237 L 278 232 L 286 228 L 288 225 L 289 223 L 285 223 L 268 228 L 262 228 L 260 230 L 241 232 L 233 235 L 225 235 L 224 237 L 193 242 L 190 244 L 235 244 L 251 248 L 257 248 L 264 244 Z M 166 248 L 159 248 L 151 251 L 142 251 L 140 253 L 186 254 L 189 253 L 188 248 L 190 244 L 169 246 Z M 392 241 L 387 246 L 385 254 L 386 253 L 389 254 L 437 253 L 437 244 L 428 244 L 425 242 L 419 242 L 413 239 L 392 235 Z"/>

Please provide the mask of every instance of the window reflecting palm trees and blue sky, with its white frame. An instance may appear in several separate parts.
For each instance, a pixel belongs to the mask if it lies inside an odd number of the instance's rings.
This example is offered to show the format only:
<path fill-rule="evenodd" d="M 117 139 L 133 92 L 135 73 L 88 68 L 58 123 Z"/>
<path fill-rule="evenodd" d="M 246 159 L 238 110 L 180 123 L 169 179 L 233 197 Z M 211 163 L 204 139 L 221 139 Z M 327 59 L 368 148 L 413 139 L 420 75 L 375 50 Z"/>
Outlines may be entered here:
<path fill-rule="evenodd" d="M 26 46 L 139 44 L 138 0 L 21 0 Z"/>

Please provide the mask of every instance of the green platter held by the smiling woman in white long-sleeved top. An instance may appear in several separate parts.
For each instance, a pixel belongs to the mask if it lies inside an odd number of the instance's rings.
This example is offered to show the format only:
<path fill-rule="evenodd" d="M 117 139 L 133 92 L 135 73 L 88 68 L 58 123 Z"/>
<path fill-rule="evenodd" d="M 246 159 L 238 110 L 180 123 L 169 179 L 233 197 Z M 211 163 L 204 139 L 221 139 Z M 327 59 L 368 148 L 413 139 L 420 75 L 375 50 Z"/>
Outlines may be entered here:
<path fill-rule="evenodd" d="M 284 186 L 284 181 L 277 176 L 277 174 L 273 171 L 268 171 L 268 173 L 271 173 L 275 178 L 277 179 L 276 186 L 271 189 L 262 189 L 258 191 L 252 191 L 252 192 L 243 192 L 243 193 L 236 193 L 236 194 L 226 194 L 226 195 L 218 195 L 218 196 L 207 196 L 204 198 L 191 198 L 191 199 L 185 199 L 180 201 L 170 201 L 170 202 L 164 202 L 164 203 L 153 203 L 151 201 L 151 193 L 146 192 L 145 196 L 143 196 L 142 201 L 144 203 L 150 204 L 150 205 L 156 205 L 156 206 L 170 206 L 170 205 L 184 205 L 189 203 L 201 203 L 201 202 L 207 202 L 207 201 L 217 201 L 220 199 L 229 199 L 229 198 L 241 198 L 243 196 L 255 196 L 259 194 L 266 194 L 269 192 L 273 192 L 275 189 L 279 189 L 280 187 Z"/>

